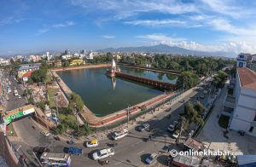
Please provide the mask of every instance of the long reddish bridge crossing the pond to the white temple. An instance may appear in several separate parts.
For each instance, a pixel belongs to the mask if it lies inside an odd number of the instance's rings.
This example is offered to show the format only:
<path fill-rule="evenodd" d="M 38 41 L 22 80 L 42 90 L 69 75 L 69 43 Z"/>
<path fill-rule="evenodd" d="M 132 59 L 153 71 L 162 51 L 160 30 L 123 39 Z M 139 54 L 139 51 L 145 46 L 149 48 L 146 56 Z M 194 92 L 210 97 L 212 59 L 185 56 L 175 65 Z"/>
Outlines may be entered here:
<path fill-rule="evenodd" d="M 149 78 L 137 77 L 134 75 L 123 73 L 123 72 L 115 72 L 115 76 L 119 77 L 119 78 L 130 79 L 130 80 L 136 81 L 138 83 L 145 83 L 145 84 L 148 84 L 150 86 L 153 86 L 153 87 L 159 88 L 159 89 L 172 89 L 172 90 L 177 89 L 177 86 L 172 83 L 156 81 L 154 79 L 149 79 Z"/>

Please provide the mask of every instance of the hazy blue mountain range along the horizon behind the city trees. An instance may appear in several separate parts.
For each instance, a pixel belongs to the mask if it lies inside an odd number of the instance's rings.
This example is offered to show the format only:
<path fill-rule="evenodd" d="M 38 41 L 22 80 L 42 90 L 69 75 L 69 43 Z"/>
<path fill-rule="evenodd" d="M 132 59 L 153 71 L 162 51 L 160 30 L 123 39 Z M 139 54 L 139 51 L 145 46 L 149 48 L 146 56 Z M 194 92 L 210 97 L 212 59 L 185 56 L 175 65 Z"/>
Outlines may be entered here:
<path fill-rule="evenodd" d="M 191 49 L 183 49 L 177 46 L 169 46 L 166 44 L 159 44 L 154 46 L 140 46 L 140 47 L 123 47 L 123 48 L 106 48 L 98 49 L 98 52 L 135 52 L 135 53 L 168 53 L 168 54 L 179 54 L 179 55 L 212 55 L 212 56 L 224 56 L 224 57 L 235 57 L 236 53 L 232 52 L 206 52 L 197 51 Z"/>

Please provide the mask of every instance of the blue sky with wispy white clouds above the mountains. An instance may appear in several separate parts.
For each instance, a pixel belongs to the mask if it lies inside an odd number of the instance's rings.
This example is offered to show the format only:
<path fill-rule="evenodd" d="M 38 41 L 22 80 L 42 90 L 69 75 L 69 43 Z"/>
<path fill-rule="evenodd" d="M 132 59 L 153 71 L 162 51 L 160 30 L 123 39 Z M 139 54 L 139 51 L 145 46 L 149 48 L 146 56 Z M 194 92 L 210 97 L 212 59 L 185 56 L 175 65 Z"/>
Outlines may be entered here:
<path fill-rule="evenodd" d="M 160 43 L 200 51 L 256 51 L 256 1 L 3 0 L 0 4 L 0 55 Z"/>

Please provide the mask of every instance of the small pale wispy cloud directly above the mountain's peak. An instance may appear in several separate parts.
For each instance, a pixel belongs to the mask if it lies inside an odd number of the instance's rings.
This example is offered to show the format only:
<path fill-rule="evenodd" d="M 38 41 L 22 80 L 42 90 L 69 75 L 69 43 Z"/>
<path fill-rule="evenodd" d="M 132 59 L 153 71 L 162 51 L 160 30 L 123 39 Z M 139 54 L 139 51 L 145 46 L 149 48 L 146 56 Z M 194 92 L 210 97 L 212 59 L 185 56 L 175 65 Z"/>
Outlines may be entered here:
<path fill-rule="evenodd" d="M 164 34 L 148 34 L 148 35 L 142 35 L 142 36 L 137 36 L 139 38 L 143 39 L 148 39 L 148 40 L 153 40 L 153 41 L 182 41 L 185 40 L 185 38 L 180 38 L 180 37 L 170 37 L 166 36 Z"/>

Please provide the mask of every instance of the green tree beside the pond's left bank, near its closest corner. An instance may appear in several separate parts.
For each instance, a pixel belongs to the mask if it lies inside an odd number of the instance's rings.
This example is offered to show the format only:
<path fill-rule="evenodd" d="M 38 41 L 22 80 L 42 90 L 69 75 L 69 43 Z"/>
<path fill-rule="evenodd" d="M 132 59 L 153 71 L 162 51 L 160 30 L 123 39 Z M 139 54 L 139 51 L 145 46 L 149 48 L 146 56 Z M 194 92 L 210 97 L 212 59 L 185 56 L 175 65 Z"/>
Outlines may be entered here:
<path fill-rule="evenodd" d="M 71 110 L 76 109 L 77 112 L 82 112 L 83 107 L 84 107 L 84 101 L 82 100 L 81 96 L 76 94 L 76 93 L 72 93 L 69 96 L 69 105 L 68 108 Z"/>

